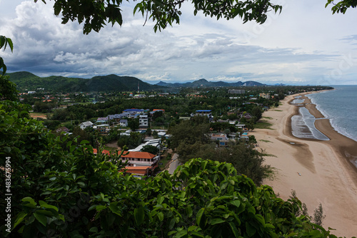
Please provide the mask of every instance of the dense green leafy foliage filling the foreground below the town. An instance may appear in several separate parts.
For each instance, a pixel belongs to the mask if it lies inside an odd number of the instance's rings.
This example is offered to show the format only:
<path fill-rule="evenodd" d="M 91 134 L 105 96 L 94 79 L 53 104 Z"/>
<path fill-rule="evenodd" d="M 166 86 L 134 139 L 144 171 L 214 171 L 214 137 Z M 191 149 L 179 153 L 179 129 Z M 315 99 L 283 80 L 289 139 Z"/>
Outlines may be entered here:
<path fill-rule="evenodd" d="M 28 110 L 0 103 L 1 165 L 9 157 L 16 191 L 2 237 L 336 237 L 297 217 L 297 198 L 281 200 L 229 163 L 192 159 L 174 175 L 139 180 L 120 155 L 94 155 L 87 141 L 49 133 Z"/>

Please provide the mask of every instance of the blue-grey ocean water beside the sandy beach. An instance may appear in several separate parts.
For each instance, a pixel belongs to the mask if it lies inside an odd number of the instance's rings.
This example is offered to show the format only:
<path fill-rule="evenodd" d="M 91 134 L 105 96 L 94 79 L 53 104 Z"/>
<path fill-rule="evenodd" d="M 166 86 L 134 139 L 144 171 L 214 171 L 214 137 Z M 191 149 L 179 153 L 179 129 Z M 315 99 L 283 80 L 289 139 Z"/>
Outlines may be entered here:
<path fill-rule="evenodd" d="M 308 94 L 316 108 L 342 135 L 357 141 L 357 86 L 333 86 L 336 90 Z"/>

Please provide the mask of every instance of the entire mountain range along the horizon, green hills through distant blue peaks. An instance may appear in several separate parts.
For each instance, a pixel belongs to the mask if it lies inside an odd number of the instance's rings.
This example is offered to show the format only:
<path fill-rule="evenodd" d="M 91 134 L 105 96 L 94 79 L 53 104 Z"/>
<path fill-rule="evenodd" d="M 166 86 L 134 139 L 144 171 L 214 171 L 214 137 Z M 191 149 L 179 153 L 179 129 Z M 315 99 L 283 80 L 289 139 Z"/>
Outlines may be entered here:
<path fill-rule="evenodd" d="M 141 91 L 171 90 L 173 88 L 210 88 L 210 87 L 241 87 L 241 86 L 265 86 L 255 81 L 238 81 L 226 83 L 223 81 L 211 82 L 202 78 L 191 83 L 146 83 L 139 78 L 129 76 L 95 76 L 93 78 L 67 78 L 63 76 L 39 77 L 26 71 L 7 73 L 10 81 L 16 83 L 19 90 L 56 90 L 59 92 L 89 92 L 89 91 L 136 91 L 138 85 Z"/>

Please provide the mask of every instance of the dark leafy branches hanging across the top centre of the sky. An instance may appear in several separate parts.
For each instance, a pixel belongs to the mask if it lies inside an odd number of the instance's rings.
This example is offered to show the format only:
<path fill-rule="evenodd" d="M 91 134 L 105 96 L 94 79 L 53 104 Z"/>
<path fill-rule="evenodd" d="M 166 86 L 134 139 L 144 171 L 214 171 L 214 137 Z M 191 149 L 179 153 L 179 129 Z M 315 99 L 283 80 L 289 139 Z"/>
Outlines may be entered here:
<path fill-rule="evenodd" d="M 34 0 L 37 2 L 38 0 Z M 42 0 L 46 4 L 46 0 Z M 84 22 L 83 32 L 88 34 L 91 30 L 100 31 L 107 23 L 123 24 L 121 15 L 122 0 L 54 0 L 54 14 L 61 14 L 62 24 L 69 20 Z M 127 0 L 129 1 L 129 0 Z M 134 0 L 136 1 L 136 0 Z M 173 23 L 180 23 L 181 6 L 186 0 L 143 0 L 134 7 L 134 14 L 140 12 L 145 17 L 145 22 L 151 19 L 155 22 L 154 31 L 166 29 Z M 270 0 L 238 1 L 238 0 L 192 0 L 194 15 L 198 11 L 205 16 L 234 19 L 239 16 L 243 23 L 256 21 L 263 24 L 267 19 L 268 11 L 280 12 L 282 6 L 271 4 Z"/>

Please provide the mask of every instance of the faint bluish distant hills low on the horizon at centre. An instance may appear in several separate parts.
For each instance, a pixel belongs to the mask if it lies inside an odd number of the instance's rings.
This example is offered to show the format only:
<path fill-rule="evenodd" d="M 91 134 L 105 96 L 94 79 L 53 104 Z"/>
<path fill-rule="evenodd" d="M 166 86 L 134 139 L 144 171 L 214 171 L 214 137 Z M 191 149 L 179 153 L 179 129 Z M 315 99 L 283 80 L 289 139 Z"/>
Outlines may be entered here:
<path fill-rule="evenodd" d="M 172 87 L 172 88 L 209 88 L 209 87 L 239 87 L 239 86 L 265 86 L 263 83 L 258 83 L 256 81 L 246 81 L 241 82 L 238 81 L 236 83 L 226 83 L 223 81 L 218 82 L 210 82 L 204 78 L 201 78 L 197 81 L 193 81 L 192 83 L 165 83 L 160 81 L 156 83 L 156 86 L 164 86 L 164 87 Z"/>

